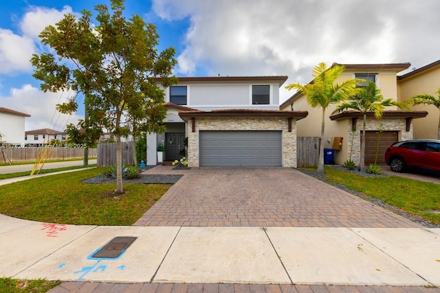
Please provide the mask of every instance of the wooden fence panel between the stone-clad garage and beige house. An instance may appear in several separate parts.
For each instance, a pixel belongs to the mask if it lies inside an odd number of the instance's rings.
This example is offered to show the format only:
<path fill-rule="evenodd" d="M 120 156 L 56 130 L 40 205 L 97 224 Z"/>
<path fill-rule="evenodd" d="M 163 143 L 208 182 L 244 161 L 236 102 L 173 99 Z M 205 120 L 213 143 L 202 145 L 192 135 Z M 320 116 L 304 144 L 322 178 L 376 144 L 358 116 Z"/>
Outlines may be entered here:
<path fill-rule="evenodd" d="M 320 137 L 297 137 L 296 163 L 298 167 L 318 167 Z"/>

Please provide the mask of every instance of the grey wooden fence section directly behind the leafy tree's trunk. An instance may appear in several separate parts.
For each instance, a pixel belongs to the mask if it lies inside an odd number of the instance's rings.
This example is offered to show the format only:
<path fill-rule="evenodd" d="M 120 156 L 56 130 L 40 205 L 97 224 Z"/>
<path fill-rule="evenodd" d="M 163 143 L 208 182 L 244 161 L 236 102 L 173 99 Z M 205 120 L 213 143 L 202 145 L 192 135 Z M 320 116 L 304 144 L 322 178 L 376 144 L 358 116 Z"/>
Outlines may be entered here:
<path fill-rule="evenodd" d="M 122 165 L 133 165 L 133 141 L 122 144 Z M 116 165 L 116 143 L 98 143 L 98 154 L 96 156 L 98 167 L 109 167 Z"/>

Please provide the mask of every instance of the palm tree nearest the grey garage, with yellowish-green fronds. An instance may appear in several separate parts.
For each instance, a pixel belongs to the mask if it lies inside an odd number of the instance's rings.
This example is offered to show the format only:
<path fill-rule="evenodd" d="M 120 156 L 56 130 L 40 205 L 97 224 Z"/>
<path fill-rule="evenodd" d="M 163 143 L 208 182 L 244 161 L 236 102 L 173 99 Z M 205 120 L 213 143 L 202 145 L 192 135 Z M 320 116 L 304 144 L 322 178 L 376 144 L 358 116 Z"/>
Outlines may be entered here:
<path fill-rule="evenodd" d="M 335 84 L 340 74 L 344 72 L 344 65 L 333 65 L 327 69 L 324 62 L 318 64 L 312 73 L 314 80 L 305 86 L 289 84 L 288 90 L 297 89 L 307 97 L 307 103 L 312 108 L 322 108 L 321 143 L 319 151 L 318 172 L 324 172 L 324 132 L 325 110 L 330 104 L 338 104 L 353 93 L 357 80 L 351 79 Z"/>

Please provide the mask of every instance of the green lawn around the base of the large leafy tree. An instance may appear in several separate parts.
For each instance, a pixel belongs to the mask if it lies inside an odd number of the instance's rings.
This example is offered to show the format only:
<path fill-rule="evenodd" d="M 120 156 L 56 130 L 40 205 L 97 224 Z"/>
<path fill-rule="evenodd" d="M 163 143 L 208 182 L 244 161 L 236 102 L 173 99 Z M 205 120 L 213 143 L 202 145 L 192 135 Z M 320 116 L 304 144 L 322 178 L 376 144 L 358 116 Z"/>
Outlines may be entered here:
<path fill-rule="evenodd" d="M 0 213 L 38 222 L 130 226 L 171 186 L 124 183 L 126 194 L 113 197 L 115 183 L 81 183 L 103 173 L 95 168 L 3 185 Z"/>

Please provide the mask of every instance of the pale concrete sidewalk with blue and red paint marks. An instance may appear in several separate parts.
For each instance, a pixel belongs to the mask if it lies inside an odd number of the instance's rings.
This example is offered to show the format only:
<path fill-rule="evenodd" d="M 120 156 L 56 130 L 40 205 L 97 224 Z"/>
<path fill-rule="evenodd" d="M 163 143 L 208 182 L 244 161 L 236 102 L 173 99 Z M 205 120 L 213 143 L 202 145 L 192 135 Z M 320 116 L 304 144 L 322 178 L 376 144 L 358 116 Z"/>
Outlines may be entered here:
<path fill-rule="evenodd" d="M 18 279 L 440 286 L 440 228 L 0 223 L 0 275 Z M 120 257 L 92 257 L 118 236 L 136 239 Z"/>

